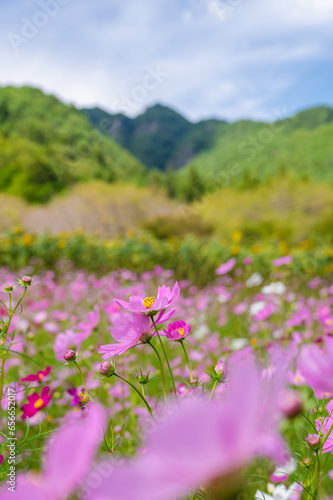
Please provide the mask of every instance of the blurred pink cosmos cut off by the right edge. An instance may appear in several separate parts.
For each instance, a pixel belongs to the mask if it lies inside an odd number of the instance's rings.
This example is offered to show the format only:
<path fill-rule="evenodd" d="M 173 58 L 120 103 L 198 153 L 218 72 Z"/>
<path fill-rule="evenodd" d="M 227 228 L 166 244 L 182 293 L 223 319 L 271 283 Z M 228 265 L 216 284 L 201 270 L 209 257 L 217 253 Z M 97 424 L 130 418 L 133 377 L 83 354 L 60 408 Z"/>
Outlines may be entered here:
<path fill-rule="evenodd" d="M 297 368 L 307 384 L 319 397 L 333 392 L 333 342 L 327 340 L 325 348 L 309 344 L 301 349 Z"/>

